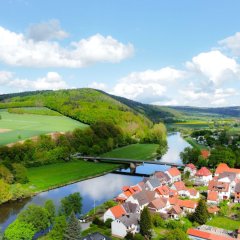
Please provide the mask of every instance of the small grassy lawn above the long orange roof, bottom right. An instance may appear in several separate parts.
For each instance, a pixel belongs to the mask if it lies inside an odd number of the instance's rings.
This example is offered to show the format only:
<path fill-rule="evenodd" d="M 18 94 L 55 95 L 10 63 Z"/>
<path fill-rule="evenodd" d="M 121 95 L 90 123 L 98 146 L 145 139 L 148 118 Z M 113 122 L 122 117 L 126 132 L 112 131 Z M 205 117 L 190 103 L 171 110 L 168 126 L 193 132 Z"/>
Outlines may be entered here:
<path fill-rule="evenodd" d="M 227 217 L 213 217 L 206 225 L 213 227 L 223 228 L 227 230 L 236 230 L 240 227 L 240 221 L 234 221 Z"/>

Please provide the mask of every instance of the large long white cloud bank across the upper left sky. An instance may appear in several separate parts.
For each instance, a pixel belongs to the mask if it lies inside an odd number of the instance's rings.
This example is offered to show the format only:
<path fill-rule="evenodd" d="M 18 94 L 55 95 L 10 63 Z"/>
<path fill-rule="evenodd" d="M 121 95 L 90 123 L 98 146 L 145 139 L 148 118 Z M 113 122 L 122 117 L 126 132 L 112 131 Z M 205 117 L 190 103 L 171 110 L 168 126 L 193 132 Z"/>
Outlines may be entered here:
<path fill-rule="evenodd" d="M 97 62 L 116 63 L 132 56 L 132 44 L 96 34 L 68 47 L 58 42 L 34 41 L 0 27 L 0 61 L 12 66 L 81 68 Z"/>

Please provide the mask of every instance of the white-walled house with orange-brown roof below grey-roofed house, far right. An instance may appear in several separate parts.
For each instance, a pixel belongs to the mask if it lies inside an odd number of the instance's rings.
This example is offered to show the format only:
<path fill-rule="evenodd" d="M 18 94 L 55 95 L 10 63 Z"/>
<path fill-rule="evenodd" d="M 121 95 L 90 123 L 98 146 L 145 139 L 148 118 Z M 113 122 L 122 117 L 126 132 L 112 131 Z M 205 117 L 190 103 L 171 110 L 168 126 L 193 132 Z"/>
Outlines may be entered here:
<path fill-rule="evenodd" d="M 218 193 L 218 199 L 227 200 L 231 196 L 230 184 L 226 182 L 219 182 L 216 180 L 212 180 L 208 184 L 208 192 L 216 191 Z"/>

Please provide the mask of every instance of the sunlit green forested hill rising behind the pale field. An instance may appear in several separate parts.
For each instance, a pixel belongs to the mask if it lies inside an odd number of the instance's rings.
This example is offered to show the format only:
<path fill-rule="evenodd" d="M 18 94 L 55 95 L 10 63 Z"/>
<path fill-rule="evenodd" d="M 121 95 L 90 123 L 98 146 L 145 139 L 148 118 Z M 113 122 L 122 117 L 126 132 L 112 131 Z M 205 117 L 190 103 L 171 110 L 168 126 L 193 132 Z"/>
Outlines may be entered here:
<path fill-rule="evenodd" d="M 0 99 L 0 108 L 45 106 L 87 124 L 114 123 L 130 135 L 143 135 L 153 125 L 148 117 L 94 89 L 27 92 Z"/>

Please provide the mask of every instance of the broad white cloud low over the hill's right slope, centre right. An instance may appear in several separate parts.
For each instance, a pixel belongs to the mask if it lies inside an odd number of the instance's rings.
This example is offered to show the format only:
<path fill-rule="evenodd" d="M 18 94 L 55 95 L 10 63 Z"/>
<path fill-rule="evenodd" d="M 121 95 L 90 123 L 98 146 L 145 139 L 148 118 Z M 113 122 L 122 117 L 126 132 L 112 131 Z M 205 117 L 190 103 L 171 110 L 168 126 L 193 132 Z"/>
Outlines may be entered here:
<path fill-rule="evenodd" d="M 166 92 L 166 86 L 177 79 L 182 79 L 185 73 L 171 67 L 159 70 L 133 72 L 120 79 L 113 89 L 113 94 L 130 99 L 159 98 Z"/>

